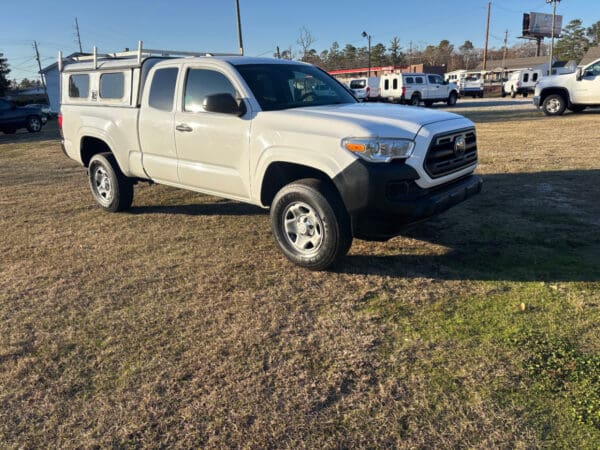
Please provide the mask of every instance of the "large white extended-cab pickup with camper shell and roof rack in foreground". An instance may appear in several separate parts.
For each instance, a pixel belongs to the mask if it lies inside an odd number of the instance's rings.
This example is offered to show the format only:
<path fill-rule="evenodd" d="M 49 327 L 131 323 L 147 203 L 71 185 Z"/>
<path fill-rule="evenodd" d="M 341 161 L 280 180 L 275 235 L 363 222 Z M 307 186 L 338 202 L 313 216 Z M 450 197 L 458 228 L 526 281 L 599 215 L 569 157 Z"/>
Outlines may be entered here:
<path fill-rule="evenodd" d="M 63 150 L 107 211 L 140 181 L 270 208 L 285 256 L 320 270 L 481 189 L 464 117 L 358 103 L 304 63 L 165 54 L 59 60 Z"/>

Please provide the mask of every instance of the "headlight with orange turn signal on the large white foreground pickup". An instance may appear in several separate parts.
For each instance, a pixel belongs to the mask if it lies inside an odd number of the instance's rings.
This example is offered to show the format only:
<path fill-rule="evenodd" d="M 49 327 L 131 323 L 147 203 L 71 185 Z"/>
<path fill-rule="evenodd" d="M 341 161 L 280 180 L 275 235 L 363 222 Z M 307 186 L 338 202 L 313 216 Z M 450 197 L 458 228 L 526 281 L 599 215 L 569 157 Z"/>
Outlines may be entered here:
<path fill-rule="evenodd" d="M 345 138 L 342 147 L 371 162 L 406 159 L 415 147 L 414 141 L 394 138 Z"/>

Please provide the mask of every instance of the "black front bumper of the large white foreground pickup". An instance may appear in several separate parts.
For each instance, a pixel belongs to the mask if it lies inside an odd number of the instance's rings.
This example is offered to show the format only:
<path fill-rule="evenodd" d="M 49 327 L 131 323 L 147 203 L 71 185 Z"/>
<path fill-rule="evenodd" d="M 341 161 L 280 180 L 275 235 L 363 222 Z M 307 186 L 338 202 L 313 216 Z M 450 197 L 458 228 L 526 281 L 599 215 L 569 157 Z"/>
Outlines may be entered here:
<path fill-rule="evenodd" d="M 357 160 L 334 178 L 352 219 L 355 237 L 385 240 L 407 226 L 457 205 L 481 191 L 477 175 L 423 189 L 417 186 L 417 172 L 394 161 L 388 164 Z"/>

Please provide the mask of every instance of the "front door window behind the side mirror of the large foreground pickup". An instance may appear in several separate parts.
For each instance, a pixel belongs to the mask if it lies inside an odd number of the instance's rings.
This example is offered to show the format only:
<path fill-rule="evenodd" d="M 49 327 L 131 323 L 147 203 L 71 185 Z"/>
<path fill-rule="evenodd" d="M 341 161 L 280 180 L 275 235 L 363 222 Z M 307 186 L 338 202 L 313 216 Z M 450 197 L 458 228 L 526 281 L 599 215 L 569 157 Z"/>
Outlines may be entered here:
<path fill-rule="evenodd" d="M 237 95 L 235 88 L 221 72 L 205 69 L 190 69 L 185 82 L 184 111 L 204 111 L 202 104 L 207 95 Z"/>

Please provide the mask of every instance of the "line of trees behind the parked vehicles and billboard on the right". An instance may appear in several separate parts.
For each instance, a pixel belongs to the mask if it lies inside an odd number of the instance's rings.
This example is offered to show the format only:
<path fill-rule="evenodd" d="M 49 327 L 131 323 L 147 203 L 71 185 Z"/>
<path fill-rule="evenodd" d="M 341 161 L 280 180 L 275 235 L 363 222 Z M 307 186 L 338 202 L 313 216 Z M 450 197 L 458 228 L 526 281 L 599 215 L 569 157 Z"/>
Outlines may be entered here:
<path fill-rule="evenodd" d="M 300 29 L 300 36 L 296 41 L 299 50 L 294 53 L 291 48 L 276 53 L 275 57 L 284 59 L 299 59 L 318 65 L 325 70 L 352 69 L 367 67 L 369 64 L 368 45 L 356 47 L 352 44 L 341 46 L 333 42 L 328 49 L 317 51 L 313 44 L 315 37 L 306 28 Z M 365 44 L 367 38 L 365 37 Z M 562 37 L 555 42 L 555 54 L 559 60 L 575 60 L 579 62 L 589 47 L 600 43 L 600 21 L 590 27 L 583 26 L 580 19 L 572 20 L 563 28 Z M 549 39 L 542 43 L 541 54 L 549 54 Z M 488 49 L 488 60 L 502 60 L 503 58 L 526 58 L 536 56 L 537 45 L 535 41 L 523 41 L 507 48 Z M 483 60 L 483 49 L 476 48 L 469 40 L 456 47 L 448 40 L 442 40 L 437 45 L 419 47 L 405 43 L 401 44 L 400 38 L 394 37 L 386 44 L 381 42 L 371 45 L 371 66 L 406 66 L 410 64 L 428 64 L 431 66 L 444 66 L 447 71 L 457 69 L 474 69 Z"/>

